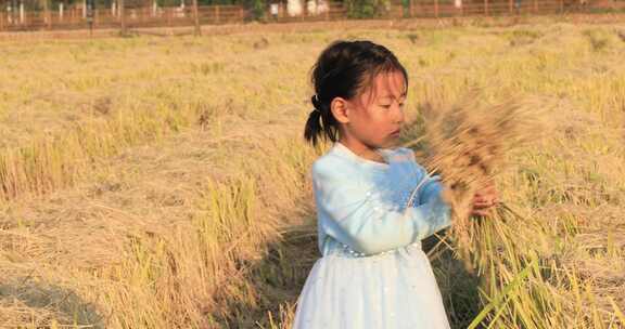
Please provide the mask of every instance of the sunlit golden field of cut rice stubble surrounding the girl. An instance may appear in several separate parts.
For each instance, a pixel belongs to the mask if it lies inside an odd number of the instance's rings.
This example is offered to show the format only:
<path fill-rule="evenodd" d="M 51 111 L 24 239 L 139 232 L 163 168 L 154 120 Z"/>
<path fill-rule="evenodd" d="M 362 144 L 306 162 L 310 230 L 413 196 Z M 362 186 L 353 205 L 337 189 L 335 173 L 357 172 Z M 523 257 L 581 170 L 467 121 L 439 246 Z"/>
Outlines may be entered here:
<path fill-rule="evenodd" d="M 452 327 L 625 328 L 625 24 L 547 19 L 0 43 L 0 327 L 289 328 L 329 146 L 303 142 L 308 73 L 336 39 L 405 64 L 406 142 L 475 87 L 553 104 L 471 259 L 425 244 Z"/>

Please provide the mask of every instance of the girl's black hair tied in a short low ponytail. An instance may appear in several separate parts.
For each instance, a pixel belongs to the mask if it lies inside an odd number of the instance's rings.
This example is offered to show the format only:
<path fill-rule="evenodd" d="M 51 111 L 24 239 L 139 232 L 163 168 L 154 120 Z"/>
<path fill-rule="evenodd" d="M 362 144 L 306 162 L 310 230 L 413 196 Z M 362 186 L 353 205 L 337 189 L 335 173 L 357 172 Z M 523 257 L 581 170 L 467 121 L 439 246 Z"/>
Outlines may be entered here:
<path fill-rule="evenodd" d="M 330 110 L 335 97 L 352 100 L 371 84 L 380 73 L 399 71 L 408 88 L 408 74 L 397 57 L 385 47 L 371 41 L 335 41 L 312 66 L 310 81 L 315 95 L 304 137 L 317 145 L 320 137 L 336 142 L 339 122 Z"/>

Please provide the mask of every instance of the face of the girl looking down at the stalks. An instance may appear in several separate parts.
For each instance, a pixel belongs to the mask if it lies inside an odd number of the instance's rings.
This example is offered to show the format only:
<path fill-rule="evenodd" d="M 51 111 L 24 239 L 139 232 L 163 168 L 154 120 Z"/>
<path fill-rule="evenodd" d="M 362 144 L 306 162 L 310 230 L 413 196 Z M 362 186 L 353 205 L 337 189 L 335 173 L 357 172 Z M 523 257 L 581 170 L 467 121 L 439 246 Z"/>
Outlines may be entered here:
<path fill-rule="evenodd" d="M 404 75 L 400 71 L 379 74 L 370 88 L 345 101 L 346 120 L 340 120 L 343 121 L 342 142 L 357 149 L 394 146 L 405 119 L 405 101 Z"/>

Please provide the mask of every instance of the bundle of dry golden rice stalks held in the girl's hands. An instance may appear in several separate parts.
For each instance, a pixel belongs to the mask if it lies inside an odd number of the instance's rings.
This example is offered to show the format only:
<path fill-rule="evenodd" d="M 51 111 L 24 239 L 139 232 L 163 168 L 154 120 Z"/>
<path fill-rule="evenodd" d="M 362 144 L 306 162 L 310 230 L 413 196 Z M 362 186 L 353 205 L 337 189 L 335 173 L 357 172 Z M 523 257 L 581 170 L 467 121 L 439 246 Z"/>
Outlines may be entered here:
<path fill-rule="evenodd" d="M 472 91 L 452 106 L 429 103 L 422 108 L 425 131 L 419 152 L 424 153 L 430 174 L 441 175 L 446 187 L 443 197 L 452 209 L 451 233 L 465 263 L 472 249 L 473 197 L 503 169 L 508 153 L 537 139 L 537 110 L 543 108 L 538 98 L 510 97 L 496 105 L 480 98 Z"/>

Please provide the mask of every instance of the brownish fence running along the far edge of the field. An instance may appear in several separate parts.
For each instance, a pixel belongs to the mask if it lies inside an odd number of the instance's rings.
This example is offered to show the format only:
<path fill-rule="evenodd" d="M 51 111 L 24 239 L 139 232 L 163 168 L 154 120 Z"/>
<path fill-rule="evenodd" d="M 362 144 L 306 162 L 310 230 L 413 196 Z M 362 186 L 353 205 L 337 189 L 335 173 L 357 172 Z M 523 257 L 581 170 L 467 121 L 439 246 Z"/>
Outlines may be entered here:
<path fill-rule="evenodd" d="M 545 15 L 557 13 L 584 13 L 605 10 L 589 4 L 587 0 L 410 0 L 392 1 L 379 10 L 380 18 L 411 17 L 464 17 L 497 15 Z M 312 3 L 312 4 L 311 4 Z M 625 12 L 625 2 L 615 2 L 611 11 Z M 85 6 L 26 11 L 24 6 L 7 6 L 0 11 L 0 31 L 68 30 L 85 28 L 175 27 L 195 24 L 192 6 L 148 6 L 120 11 L 118 8 L 95 9 Z M 241 5 L 203 5 L 197 8 L 200 25 L 238 24 L 254 19 L 253 13 Z M 342 2 L 308 1 L 306 5 L 289 8 L 284 3 L 271 4 L 263 15 L 266 22 L 315 22 L 352 18 L 349 9 Z"/>

